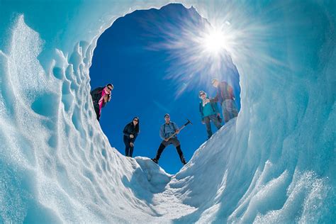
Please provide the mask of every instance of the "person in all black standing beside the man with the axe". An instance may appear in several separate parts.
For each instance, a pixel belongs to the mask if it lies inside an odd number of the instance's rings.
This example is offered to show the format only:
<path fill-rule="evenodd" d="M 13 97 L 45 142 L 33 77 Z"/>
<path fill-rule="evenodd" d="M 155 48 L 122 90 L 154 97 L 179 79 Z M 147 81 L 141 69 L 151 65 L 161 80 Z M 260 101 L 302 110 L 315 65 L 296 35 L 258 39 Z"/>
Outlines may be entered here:
<path fill-rule="evenodd" d="M 132 157 L 134 142 L 139 133 L 139 118 L 133 118 L 133 121 L 123 128 L 123 142 L 125 143 L 125 156 Z"/>

